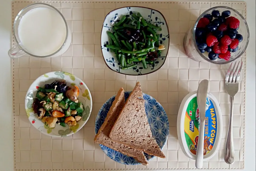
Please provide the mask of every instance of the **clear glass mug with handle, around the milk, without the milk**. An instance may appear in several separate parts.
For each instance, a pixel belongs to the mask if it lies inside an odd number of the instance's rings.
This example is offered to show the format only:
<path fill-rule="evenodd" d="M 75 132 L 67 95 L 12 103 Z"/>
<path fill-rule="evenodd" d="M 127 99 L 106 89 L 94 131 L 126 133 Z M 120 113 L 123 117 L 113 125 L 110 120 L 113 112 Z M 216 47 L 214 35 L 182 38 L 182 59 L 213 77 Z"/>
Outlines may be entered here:
<path fill-rule="evenodd" d="M 53 10 L 53 11 L 55 11 L 57 13 L 57 15 L 60 15 L 61 16 L 60 18 L 62 18 L 64 23 L 65 23 L 65 29 L 66 29 L 65 39 L 64 39 L 63 43 L 61 42 L 62 45 L 60 47 L 58 47 L 58 49 L 54 50 L 55 52 L 47 54 L 47 55 L 43 55 L 43 56 L 36 55 L 35 53 L 33 54 L 33 53 L 29 52 L 27 50 L 28 47 L 26 48 L 25 45 L 22 44 L 22 41 L 21 41 L 20 35 L 19 35 L 19 31 L 18 31 L 19 24 L 20 24 L 21 19 L 23 18 L 23 16 L 25 14 L 27 14 L 27 12 L 29 12 L 30 10 L 33 10 L 33 9 L 36 9 L 36 8 L 39 8 L 39 7 L 44 7 L 44 8 Z M 34 3 L 32 5 L 29 5 L 29 6 L 25 7 L 25 8 L 23 8 L 18 13 L 18 15 L 16 16 L 16 18 L 14 20 L 14 23 L 13 23 L 13 34 L 14 34 L 14 38 L 15 38 L 15 40 L 17 42 L 17 45 L 13 46 L 8 51 L 8 55 L 11 58 L 18 58 L 18 57 L 21 57 L 21 56 L 23 56 L 25 54 L 28 54 L 28 55 L 34 56 L 34 57 L 40 57 L 40 58 L 60 56 L 60 55 L 62 55 L 63 53 L 65 53 L 67 51 L 67 49 L 69 48 L 69 46 L 71 44 L 71 39 L 72 39 L 71 31 L 70 31 L 70 29 L 69 29 L 69 27 L 67 25 L 67 22 L 66 22 L 64 16 L 61 14 L 61 12 L 58 9 L 56 9 L 55 7 L 53 7 L 53 6 L 49 5 L 49 4 L 45 4 L 45 3 Z M 40 34 L 40 32 L 38 32 L 38 34 Z M 38 41 L 40 41 L 40 40 L 38 40 Z M 40 45 L 38 45 L 38 46 L 40 46 Z"/>

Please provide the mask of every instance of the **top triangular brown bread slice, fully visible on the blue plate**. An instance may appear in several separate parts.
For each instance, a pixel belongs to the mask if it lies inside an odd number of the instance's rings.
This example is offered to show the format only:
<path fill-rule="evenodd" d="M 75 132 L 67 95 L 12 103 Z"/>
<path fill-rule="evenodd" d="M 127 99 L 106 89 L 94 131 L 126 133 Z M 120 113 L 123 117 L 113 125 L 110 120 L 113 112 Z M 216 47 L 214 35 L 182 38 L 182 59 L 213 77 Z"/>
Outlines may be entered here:
<path fill-rule="evenodd" d="M 115 142 L 143 150 L 150 155 L 165 158 L 156 140 L 152 137 L 145 112 L 145 100 L 139 82 L 126 100 L 109 137 Z"/>

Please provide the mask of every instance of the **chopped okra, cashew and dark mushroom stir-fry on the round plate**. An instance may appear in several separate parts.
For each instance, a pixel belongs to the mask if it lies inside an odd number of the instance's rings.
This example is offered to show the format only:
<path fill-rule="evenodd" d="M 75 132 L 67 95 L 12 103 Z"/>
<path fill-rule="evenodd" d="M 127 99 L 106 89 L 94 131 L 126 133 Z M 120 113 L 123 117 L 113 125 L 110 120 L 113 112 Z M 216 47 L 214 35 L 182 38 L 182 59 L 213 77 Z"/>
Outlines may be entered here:
<path fill-rule="evenodd" d="M 67 86 L 66 81 L 54 81 L 39 87 L 32 107 L 38 119 L 47 126 L 54 128 L 55 124 L 65 127 L 75 126 L 82 118 L 84 106 L 78 101 L 79 88 Z"/>

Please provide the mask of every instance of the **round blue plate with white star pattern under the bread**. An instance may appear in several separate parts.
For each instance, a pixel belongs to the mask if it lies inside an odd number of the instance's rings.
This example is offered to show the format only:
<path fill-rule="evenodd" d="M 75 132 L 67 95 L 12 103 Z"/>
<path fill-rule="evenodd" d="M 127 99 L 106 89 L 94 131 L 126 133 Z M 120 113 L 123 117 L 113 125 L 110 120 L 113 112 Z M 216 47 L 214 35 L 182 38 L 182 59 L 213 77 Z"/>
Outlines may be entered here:
<path fill-rule="evenodd" d="M 128 98 L 130 93 L 131 91 L 125 92 L 125 99 Z M 157 141 L 157 144 L 159 145 L 159 147 L 163 149 L 167 141 L 167 136 L 169 134 L 169 122 L 168 122 L 167 115 L 163 107 L 160 105 L 160 103 L 158 103 L 156 99 L 144 93 L 143 93 L 143 98 L 145 99 L 145 110 L 146 110 L 147 119 L 149 121 L 151 131 L 152 131 L 152 135 Z M 110 99 L 108 99 L 99 110 L 99 113 L 95 121 L 96 134 L 99 128 L 101 127 L 101 125 L 103 124 L 107 116 L 107 112 L 109 111 L 114 99 L 115 99 L 115 95 Z M 126 155 L 123 155 L 122 153 L 117 152 L 101 144 L 99 146 L 107 156 L 109 156 L 111 159 L 113 159 L 116 162 L 119 162 L 121 164 L 127 164 L 127 165 L 140 164 L 133 157 L 128 157 Z M 147 161 L 155 157 L 155 156 L 148 155 L 146 153 L 144 154 L 147 158 Z"/>

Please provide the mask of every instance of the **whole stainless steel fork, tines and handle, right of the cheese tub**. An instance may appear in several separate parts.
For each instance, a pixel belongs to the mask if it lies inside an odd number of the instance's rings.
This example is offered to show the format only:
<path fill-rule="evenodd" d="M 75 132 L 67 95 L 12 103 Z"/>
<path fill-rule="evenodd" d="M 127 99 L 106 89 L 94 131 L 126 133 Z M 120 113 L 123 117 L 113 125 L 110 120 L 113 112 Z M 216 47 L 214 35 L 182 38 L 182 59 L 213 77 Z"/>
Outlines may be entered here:
<path fill-rule="evenodd" d="M 227 132 L 227 140 L 225 145 L 224 160 L 227 164 L 233 164 L 235 161 L 235 150 L 234 150 L 234 141 L 233 141 L 233 106 L 234 106 L 234 96 L 238 92 L 239 78 L 243 66 L 243 62 L 240 65 L 238 62 L 237 68 L 235 69 L 237 62 L 235 62 L 234 67 L 233 62 L 227 71 L 225 78 L 225 90 L 230 96 L 230 116 L 229 116 L 229 130 Z M 238 69 L 239 68 L 239 69 Z"/>

